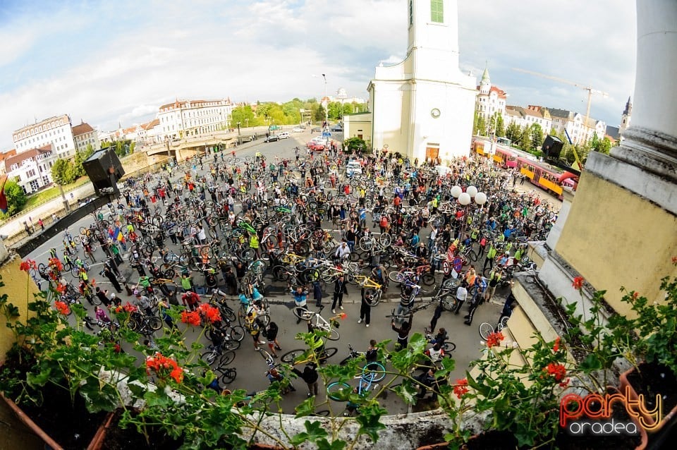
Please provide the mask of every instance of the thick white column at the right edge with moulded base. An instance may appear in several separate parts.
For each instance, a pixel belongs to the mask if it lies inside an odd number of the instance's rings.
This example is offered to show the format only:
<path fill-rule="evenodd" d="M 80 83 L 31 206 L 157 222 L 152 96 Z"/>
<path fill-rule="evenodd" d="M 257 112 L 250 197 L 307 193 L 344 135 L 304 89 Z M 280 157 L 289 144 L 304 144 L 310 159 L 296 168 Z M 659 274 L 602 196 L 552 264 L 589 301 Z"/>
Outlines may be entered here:
<path fill-rule="evenodd" d="M 677 180 L 677 1 L 637 0 L 633 121 L 611 156 Z"/>

